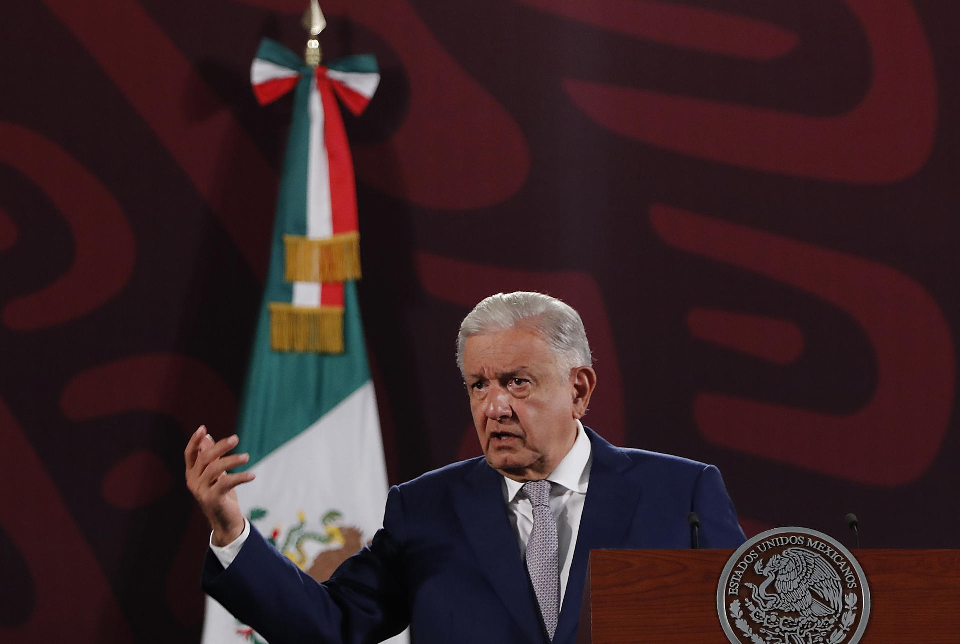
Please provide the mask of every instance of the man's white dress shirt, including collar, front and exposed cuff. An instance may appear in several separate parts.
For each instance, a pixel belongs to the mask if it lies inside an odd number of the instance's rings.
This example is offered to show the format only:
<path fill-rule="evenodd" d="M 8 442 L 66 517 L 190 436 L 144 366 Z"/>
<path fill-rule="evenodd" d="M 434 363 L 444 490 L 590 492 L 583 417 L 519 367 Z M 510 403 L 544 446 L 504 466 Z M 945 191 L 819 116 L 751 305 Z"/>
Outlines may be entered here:
<path fill-rule="evenodd" d="M 590 440 L 584 432 L 583 424 L 577 420 L 577 439 L 573 447 L 547 477 L 547 481 L 554 484 L 550 489 L 550 510 L 557 519 L 561 607 L 564 606 L 566 581 L 570 577 L 570 564 L 573 563 L 573 552 L 577 546 L 577 535 L 580 533 L 580 519 L 584 515 L 584 504 L 587 502 L 591 465 L 593 454 Z M 530 540 L 530 531 L 534 527 L 534 508 L 530 499 L 519 493 L 521 489 L 522 483 L 503 477 L 503 499 L 510 511 L 510 524 L 516 537 L 516 545 L 520 548 L 520 556 L 523 557 L 527 551 L 527 541 Z M 243 534 L 226 546 L 213 545 L 213 534 L 210 534 L 210 550 L 225 568 L 236 559 L 240 548 L 247 541 L 247 537 L 250 537 L 250 522 L 246 519 L 244 521 Z"/>

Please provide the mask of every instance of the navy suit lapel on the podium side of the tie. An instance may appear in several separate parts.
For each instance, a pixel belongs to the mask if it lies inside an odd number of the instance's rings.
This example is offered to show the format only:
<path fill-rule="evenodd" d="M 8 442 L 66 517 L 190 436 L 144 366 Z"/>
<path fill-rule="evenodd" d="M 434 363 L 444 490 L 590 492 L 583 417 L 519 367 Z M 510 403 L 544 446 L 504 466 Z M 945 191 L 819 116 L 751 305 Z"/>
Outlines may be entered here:
<path fill-rule="evenodd" d="M 642 493 L 636 482 L 624 478 L 624 472 L 632 468 L 634 462 L 592 430 L 585 429 L 593 465 L 554 642 L 567 641 L 580 619 L 590 550 L 623 547 L 630 537 L 630 526 Z"/>

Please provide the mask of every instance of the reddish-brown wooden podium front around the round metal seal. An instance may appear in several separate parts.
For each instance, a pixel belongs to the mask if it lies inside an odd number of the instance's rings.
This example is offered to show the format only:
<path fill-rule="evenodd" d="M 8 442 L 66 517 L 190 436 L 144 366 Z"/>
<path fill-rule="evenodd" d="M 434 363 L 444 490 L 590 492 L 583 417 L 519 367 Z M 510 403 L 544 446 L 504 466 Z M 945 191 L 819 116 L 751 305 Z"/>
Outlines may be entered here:
<path fill-rule="evenodd" d="M 861 644 L 960 643 L 960 550 L 854 550 L 872 608 Z M 717 584 L 732 550 L 594 550 L 577 642 L 729 644 Z"/>

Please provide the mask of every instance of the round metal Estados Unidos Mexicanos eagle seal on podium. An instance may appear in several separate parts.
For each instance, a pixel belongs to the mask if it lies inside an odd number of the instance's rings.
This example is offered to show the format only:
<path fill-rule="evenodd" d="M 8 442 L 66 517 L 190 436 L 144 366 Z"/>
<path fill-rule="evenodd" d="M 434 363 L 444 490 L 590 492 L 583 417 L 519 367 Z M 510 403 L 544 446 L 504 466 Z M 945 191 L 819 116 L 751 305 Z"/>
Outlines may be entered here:
<path fill-rule="evenodd" d="M 856 644 L 870 617 L 870 587 L 834 539 L 777 528 L 727 561 L 717 613 L 732 644 Z"/>

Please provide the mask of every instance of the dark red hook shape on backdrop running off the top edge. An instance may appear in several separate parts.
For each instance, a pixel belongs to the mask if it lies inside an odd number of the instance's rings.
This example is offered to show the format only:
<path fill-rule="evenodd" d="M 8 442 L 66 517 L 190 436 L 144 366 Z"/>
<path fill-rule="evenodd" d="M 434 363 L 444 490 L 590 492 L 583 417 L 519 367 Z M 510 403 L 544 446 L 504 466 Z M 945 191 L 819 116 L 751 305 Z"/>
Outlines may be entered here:
<path fill-rule="evenodd" d="M 574 79 L 564 87 L 600 125 L 665 150 L 813 179 L 906 179 L 933 147 L 933 55 L 909 2 L 848 4 L 867 33 L 874 73 L 867 95 L 844 114 L 807 116 Z"/>

